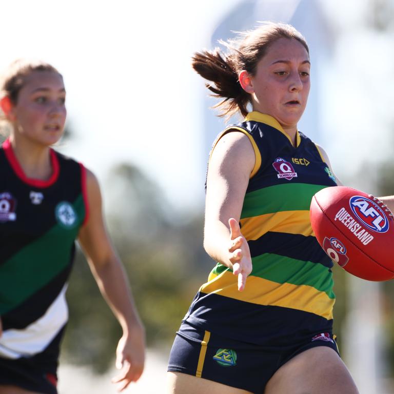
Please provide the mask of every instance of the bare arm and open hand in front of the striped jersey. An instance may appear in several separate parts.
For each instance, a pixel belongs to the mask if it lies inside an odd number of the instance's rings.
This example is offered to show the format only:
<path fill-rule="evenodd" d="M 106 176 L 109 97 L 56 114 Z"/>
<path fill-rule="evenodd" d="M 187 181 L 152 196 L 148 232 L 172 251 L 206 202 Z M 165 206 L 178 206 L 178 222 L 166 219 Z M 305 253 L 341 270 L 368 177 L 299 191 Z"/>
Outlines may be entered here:
<path fill-rule="evenodd" d="M 238 289 L 252 270 L 249 245 L 239 226 L 255 155 L 242 132 L 225 134 L 211 154 L 207 174 L 204 248 L 212 259 L 232 268 Z"/>

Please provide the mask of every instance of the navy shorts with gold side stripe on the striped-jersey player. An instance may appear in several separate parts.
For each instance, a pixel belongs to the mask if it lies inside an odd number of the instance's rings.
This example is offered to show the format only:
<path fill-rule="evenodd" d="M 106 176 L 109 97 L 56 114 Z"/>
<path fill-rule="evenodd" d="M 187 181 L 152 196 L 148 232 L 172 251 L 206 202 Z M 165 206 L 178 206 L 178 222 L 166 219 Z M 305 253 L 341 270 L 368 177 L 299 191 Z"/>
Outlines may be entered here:
<path fill-rule="evenodd" d="M 331 333 L 286 347 L 266 347 L 218 336 L 182 322 L 171 348 L 168 371 L 212 380 L 254 394 L 263 394 L 272 375 L 297 354 L 327 346 L 338 354 Z"/>

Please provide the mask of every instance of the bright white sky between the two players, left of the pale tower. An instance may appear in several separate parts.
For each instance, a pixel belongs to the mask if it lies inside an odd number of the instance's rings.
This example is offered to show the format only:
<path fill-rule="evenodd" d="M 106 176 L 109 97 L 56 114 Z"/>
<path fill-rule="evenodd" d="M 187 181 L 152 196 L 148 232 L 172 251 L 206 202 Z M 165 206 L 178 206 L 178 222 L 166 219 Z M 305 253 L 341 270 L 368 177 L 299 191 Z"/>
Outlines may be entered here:
<path fill-rule="evenodd" d="M 0 67 L 34 57 L 62 72 L 75 136 L 62 150 L 102 185 L 111 166 L 132 162 L 174 204 L 200 205 L 203 83 L 190 57 L 237 1 L 2 2 Z"/>

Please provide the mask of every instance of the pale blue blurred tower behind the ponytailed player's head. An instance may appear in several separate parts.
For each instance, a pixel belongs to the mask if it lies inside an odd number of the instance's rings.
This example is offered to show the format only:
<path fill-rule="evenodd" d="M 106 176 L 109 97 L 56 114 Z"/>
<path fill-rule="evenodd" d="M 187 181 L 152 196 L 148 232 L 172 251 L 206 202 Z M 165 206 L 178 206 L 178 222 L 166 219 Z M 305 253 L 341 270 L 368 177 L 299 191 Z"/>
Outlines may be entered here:
<path fill-rule="evenodd" d="M 300 122 L 300 130 L 321 143 L 321 87 L 324 63 L 331 56 L 333 49 L 332 34 L 329 24 L 319 3 L 313 0 L 244 0 L 235 6 L 211 35 L 210 48 L 218 47 L 218 40 L 234 38 L 237 31 L 250 30 L 258 26 L 259 21 L 287 22 L 299 29 L 306 37 L 310 49 L 312 62 L 312 84 L 308 106 Z M 207 97 L 204 90 L 204 154 L 208 155 L 209 148 L 216 135 L 224 128 L 223 119 L 215 116 L 215 112 L 208 109 L 216 103 L 215 99 Z M 238 122 L 238 119 L 234 119 Z"/>

